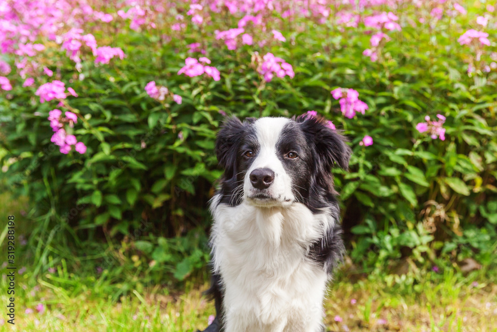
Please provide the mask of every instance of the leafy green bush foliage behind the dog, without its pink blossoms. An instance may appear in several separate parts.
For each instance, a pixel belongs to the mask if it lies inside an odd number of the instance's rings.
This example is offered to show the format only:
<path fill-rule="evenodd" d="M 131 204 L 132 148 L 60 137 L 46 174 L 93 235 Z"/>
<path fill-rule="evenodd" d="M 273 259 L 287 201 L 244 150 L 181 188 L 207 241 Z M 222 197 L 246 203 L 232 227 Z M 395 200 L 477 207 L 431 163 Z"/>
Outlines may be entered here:
<path fill-rule="evenodd" d="M 87 151 L 60 153 L 47 120 L 57 101 L 41 104 L 37 88 L 23 88 L 19 75 L 9 76 L 13 90 L 0 95 L 0 146 L 6 151 L 1 176 L 9 188 L 29 196 L 32 216 L 45 218 L 33 225 L 31 240 L 46 239 L 55 225 L 66 243 L 101 236 L 135 240 L 130 255 L 141 252 L 145 260 L 165 262 L 156 268 L 182 279 L 207 259 L 205 235 L 193 247 L 180 238 L 208 230 L 207 201 L 221 174 L 213 148 L 223 114 L 316 110 L 343 129 L 353 148 L 350 171 L 334 173 L 355 262 L 382 267 L 401 256 L 423 263 L 474 252 L 489 262 L 497 240 L 497 71 L 491 66 L 497 41 L 457 41 L 477 28 L 485 8 L 454 15 L 445 3 L 439 5 L 443 17 L 435 20 L 429 15 L 433 5 L 395 9 L 402 30 L 383 30 L 391 40 L 380 41 L 376 62 L 363 55 L 374 32 L 363 18 L 391 10 L 381 6 L 364 9 L 357 28 L 338 24 L 336 16 L 318 24 L 305 17 L 281 20 L 277 11 L 268 11 L 274 20 L 267 19 L 267 31 L 281 31 L 286 41 L 236 50 L 215 38 L 215 30 L 236 27 L 243 17 L 227 10 L 200 28 L 179 3 L 154 16 L 155 29 L 134 31 L 117 16 L 110 23 L 88 22 L 85 29 L 99 42 L 120 47 L 126 57 L 97 66 L 88 55 L 81 73 L 59 45 L 42 39 L 47 49 L 39 61 L 55 76 L 37 77 L 37 86 L 58 79 L 79 94 L 66 101 L 79 114 L 74 134 Z M 170 30 L 177 12 L 185 15 L 182 32 Z M 489 22 L 485 31 L 495 37 L 495 17 Z M 247 28 L 254 40 L 262 33 L 257 29 Z M 206 50 L 220 81 L 177 74 L 186 57 L 202 56 L 188 52 L 194 42 Z M 257 66 L 267 52 L 291 64 L 295 77 L 266 82 Z M 13 64 L 14 56 L 5 60 Z M 181 96 L 182 103 L 149 97 L 144 89 L 150 81 Z M 358 91 L 369 107 L 364 115 L 340 113 L 331 96 L 338 87 Z M 443 141 L 416 130 L 426 115 L 433 120 L 436 114 L 446 117 Z M 372 145 L 360 144 L 365 135 Z M 172 256 L 163 250 L 168 241 L 177 242 L 167 251 Z"/>

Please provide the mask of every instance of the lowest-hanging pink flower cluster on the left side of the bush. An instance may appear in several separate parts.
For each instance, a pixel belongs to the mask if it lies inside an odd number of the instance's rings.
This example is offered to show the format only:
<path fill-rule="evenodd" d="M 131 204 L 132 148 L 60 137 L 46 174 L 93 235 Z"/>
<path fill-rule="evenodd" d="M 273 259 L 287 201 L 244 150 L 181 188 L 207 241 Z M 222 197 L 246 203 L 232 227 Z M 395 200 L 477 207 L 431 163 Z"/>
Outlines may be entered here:
<path fill-rule="evenodd" d="M 73 112 L 66 111 L 63 117 L 62 111 L 58 109 L 52 110 L 48 114 L 50 126 L 55 131 L 50 141 L 59 146 L 60 152 L 68 154 L 74 147 L 77 152 L 85 153 L 86 146 L 84 143 L 78 142 L 75 135 L 68 135 L 66 129 L 64 129 L 64 124 L 68 124 L 70 128 L 73 128 L 74 124 L 78 122 L 78 116 Z"/>

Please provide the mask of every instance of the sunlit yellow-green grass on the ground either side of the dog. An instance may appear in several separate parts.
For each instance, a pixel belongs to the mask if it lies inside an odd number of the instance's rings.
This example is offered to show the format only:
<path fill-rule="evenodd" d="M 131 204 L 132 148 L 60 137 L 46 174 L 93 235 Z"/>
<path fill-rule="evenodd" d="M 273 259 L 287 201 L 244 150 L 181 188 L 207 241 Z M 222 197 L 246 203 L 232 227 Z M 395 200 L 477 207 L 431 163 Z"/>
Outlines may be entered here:
<path fill-rule="evenodd" d="M 331 285 L 326 300 L 328 328 L 336 332 L 497 331 L 496 284 L 477 285 L 473 278 L 452 271 L 435 278 L 432 274 L 428 272 L 418 287 L 406 275 L 354 283 L 342 275 Z M 4 322 L 0 331 L 190 332 L 205 328 L 214 314 L 213 304 L 201 294 L 207 283 L 188 281 L 184 291 L 174 294 L 161 288 L 130 290 L 114 301 L 91 288 L 70 296 L 68 290 L 50 282 L 55 276 L 46 277 L 28 286 L 29 271 L 19 276 L 16 324 Z M 0 288 L 6 287 L 2 278 Z M 0 298 L 6 303 L 5 292 Z M 37 310 L 40 304 L 42 313 Z"/>

